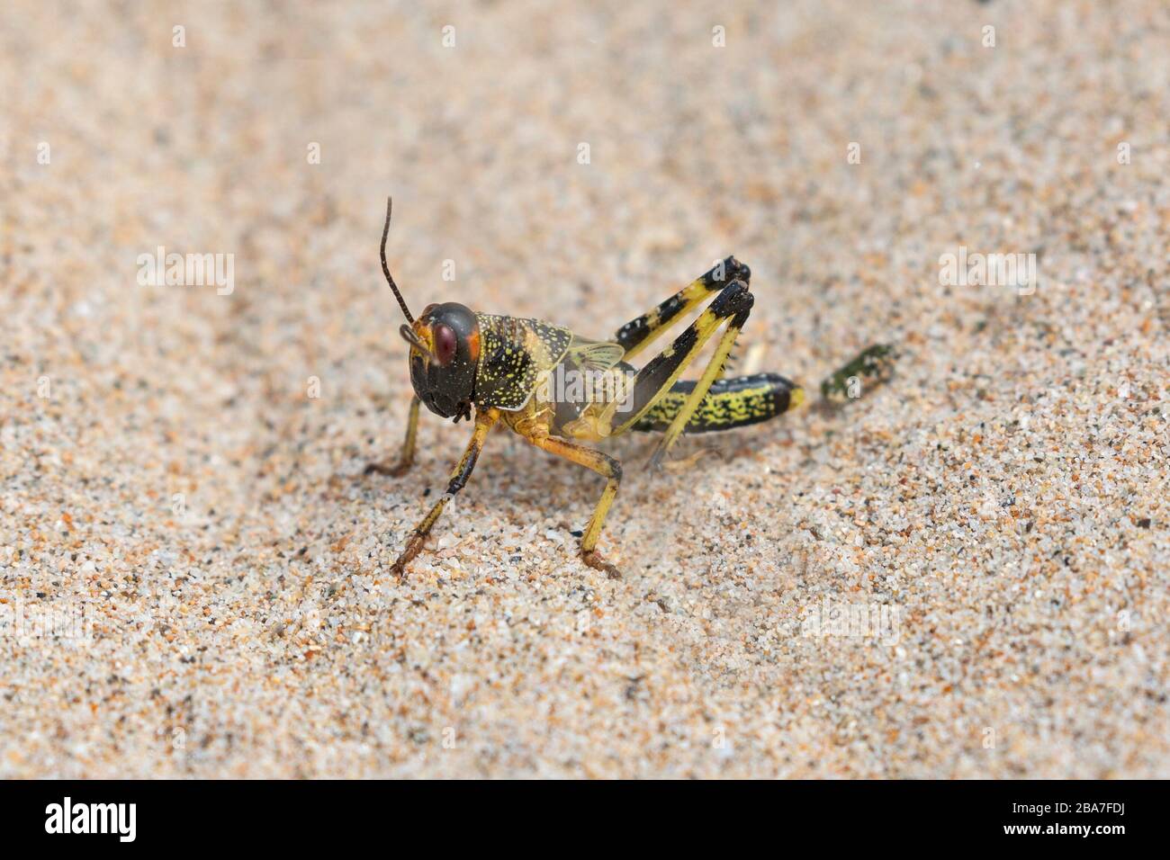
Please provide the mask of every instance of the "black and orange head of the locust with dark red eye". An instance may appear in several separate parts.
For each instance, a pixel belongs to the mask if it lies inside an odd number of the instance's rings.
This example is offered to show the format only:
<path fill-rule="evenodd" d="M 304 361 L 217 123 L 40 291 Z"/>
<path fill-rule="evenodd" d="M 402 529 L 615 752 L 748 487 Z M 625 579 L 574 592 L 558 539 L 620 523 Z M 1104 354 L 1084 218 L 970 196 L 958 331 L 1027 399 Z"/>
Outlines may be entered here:
<path fill-rule="evenodd" d="M 410 332 L 410 333 L 407 333 Z M 402 326 L 411 344 L 411 384 L 419 400 L 443 418 L 468 418 L 480 360 L 480 324 L 457 302 L 427 305 L 412 326 Z"/>

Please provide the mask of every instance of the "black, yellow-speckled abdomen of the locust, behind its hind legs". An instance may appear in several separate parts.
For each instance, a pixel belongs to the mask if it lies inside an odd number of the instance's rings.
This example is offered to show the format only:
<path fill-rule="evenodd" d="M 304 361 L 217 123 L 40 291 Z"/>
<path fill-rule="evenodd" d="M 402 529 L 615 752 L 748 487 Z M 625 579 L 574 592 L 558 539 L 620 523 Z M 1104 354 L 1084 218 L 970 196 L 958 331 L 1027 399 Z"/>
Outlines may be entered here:
<path fill-rule="evenodd" d="M 631 429 L 665 431 L 694 388 L 694 381 L 675 383 Z M 713 433 L 746 427 L 794 410 L 803 400 L 804 390 L 778 373 L 717 379 L 687 422 L 686 432 Z"/>

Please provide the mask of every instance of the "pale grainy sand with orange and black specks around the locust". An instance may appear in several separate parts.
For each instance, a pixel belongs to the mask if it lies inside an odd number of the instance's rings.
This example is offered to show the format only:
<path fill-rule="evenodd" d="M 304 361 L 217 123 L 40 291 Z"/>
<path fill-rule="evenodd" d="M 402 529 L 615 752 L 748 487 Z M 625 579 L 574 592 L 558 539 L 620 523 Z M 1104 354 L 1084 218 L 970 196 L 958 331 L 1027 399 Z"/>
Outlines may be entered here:
<path fill-rule="evenodd" d="M 1170 776 L 1163 2 L 78 6 L 0 8 L 0 776 Z M 741 365 L 897 374 L 614 440 L 620 580 L 494 435 L 398 582 L 387 194 L 417 312 L 735 254 Z"/>

